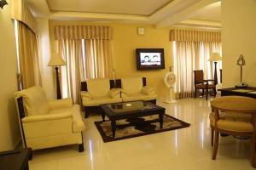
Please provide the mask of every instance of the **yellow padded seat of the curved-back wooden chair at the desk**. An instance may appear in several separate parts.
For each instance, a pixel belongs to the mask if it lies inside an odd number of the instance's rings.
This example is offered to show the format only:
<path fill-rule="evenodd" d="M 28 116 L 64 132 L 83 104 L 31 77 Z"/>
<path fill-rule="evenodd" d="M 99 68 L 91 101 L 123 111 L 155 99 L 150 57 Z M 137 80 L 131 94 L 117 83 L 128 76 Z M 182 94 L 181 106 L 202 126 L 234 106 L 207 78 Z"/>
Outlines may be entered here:
<path fill-rule="evenodd" d="M 251 116 L 247 114 L 221 112 L 219 114 L 217 127 L 227 131 L 253 132 L 253 124 L 250 122 L 250 120 Z M 210 123 L 211 126 L 214 127 L 214 112 L 210 114 Z"/>

